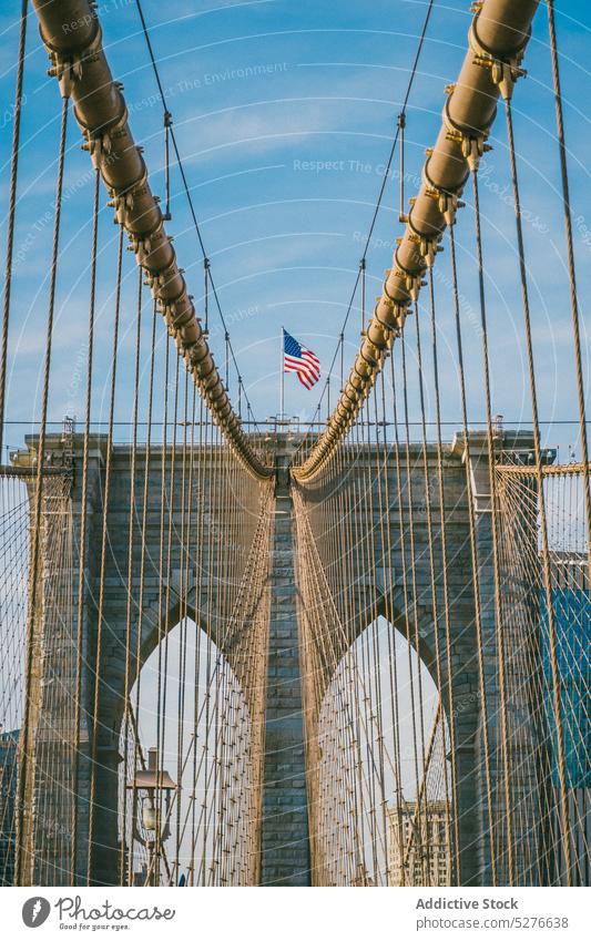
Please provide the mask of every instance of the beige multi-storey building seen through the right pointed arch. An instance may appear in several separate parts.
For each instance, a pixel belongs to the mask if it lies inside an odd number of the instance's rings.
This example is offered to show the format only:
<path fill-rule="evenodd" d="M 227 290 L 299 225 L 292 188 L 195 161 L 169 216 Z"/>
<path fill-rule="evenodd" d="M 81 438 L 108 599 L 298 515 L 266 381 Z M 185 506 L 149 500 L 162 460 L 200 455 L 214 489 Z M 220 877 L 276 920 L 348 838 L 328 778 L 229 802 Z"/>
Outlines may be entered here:
<path fill-rule="evenodd" d="M 450 886 L 449 806 L 414 800 L 388 809 L 388 886 Z"/>

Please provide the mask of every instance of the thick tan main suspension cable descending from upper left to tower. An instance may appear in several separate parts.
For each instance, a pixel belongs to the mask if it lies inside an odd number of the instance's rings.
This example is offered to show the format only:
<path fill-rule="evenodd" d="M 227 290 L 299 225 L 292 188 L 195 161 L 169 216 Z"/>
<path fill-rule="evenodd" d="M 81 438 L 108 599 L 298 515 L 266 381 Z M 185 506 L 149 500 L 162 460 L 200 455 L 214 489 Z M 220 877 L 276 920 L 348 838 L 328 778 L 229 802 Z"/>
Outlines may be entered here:
<path fill-rule="evenodd" d="M 142 149 L 128 124 L 122 85 L 113 80 L 102 47 L 95 4 L 34 0 L 34 9 L 51 60 L 50 74 L 58 79 L 62 96 L 72 98 L 84 150 L 109 190 L 115 221 L 128 232 L 179 354 L 234 453 L 253 477 L 265 479 L 272 472 L 242 431 L 164 229 L 159 198 L 150 190 Z"/>

